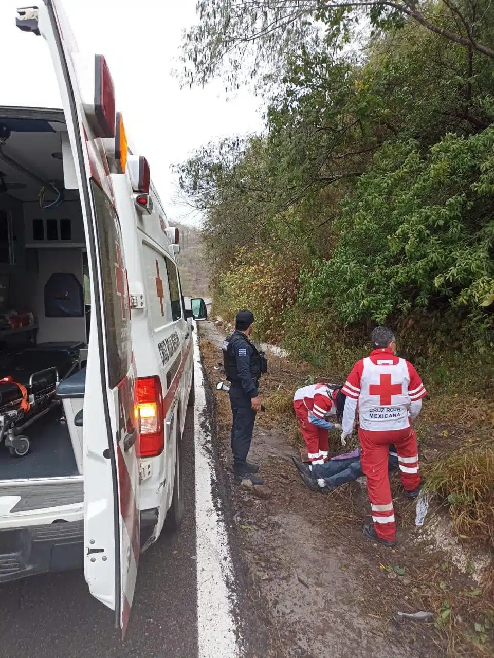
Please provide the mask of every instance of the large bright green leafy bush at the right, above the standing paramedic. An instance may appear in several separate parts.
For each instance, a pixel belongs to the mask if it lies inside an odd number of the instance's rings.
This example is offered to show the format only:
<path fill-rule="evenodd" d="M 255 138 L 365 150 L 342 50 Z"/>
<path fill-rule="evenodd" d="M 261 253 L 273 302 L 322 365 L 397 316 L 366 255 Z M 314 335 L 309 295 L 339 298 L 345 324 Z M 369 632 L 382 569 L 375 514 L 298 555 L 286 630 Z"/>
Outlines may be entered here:
<path fill-rule="evenodd" d="M 301 301 L 331 299 L 345 324 L 447 307 L 479 319 L 494 299 L 493 148 L 494 127 L 425 155 L 388 145 L 341 204 L 331 257 L 304 270 Z"/>

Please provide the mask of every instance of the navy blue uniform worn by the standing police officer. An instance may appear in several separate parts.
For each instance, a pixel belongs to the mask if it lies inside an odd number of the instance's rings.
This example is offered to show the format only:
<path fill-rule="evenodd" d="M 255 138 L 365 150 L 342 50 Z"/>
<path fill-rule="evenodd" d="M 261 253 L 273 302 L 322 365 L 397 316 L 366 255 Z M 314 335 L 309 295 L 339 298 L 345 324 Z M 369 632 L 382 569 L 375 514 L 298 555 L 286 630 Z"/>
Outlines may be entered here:
<path fill-rule="evenodd" d="M 252 408 L 253 397 L 258 397 L 259 379 L 262 373 L 257 347 L 241 331 L 235 330 L 223 343 L 223 360 L 226 378 L 230 386 L 232 407 L 232 453 L 236 474 L 249 472 L 247 455 L 251 447 L 252 433 L 257 412 Z"/>

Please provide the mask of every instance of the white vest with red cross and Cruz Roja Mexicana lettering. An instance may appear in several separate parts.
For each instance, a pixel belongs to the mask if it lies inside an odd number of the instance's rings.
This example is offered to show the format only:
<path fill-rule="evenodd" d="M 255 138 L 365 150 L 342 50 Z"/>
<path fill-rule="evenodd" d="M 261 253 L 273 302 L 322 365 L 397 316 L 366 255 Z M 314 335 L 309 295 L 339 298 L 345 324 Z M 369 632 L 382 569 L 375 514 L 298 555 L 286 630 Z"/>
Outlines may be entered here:
<path fill-rule="evenodd" d="M 369 357 L 364 359 L 358 396 L 358 422 L 362 430 L 388 432 L 409 427 L 409 384 L 405 359 L 399 359 L 396 365 L 385 355 L 378 359 L 377 365 Z"/>

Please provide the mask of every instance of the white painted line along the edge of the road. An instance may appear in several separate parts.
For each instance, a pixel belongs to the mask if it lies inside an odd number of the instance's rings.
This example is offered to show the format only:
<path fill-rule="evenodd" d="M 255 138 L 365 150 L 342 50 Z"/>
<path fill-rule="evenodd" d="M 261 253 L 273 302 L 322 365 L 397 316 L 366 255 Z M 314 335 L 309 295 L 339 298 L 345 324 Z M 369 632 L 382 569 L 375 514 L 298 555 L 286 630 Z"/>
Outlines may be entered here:
<path fill-rule="evenodd" d="M 211 434 L 205 423 L 206 396 L 201 355 L 194 326 L 195 378 L 195 524 L 197 555 L 197 626 L 199 658 L 240 658 L 233 609 L 236 596 L 228 588 L 233 581 L 232 557 L 222 513 L 214 507 L 210 457 Z"/>

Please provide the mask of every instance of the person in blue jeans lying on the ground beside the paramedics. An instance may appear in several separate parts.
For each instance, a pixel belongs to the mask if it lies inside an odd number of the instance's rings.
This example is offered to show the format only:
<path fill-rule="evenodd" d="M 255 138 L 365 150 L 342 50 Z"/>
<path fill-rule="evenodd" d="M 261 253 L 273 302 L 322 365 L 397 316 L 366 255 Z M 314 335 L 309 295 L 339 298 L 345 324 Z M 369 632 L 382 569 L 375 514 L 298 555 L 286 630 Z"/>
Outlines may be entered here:
<path fill-rule="evenodd" d="M 360 462 L 360 450 L 354 450 L 345 455 L 336 455 L 322 464 L 304 464 L 292 457 L 293 463 L 299 469 L 300 476 L 309 489 L 322 493 L 330 493 L 342 484 L 358 480 L 364 474 Z M 398 468 L 398 453 L 394 445 L 389 446 L 387 457 L 389 470 Z M 322 480 L 324 485 L 320 485 Z"/>

